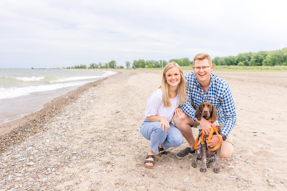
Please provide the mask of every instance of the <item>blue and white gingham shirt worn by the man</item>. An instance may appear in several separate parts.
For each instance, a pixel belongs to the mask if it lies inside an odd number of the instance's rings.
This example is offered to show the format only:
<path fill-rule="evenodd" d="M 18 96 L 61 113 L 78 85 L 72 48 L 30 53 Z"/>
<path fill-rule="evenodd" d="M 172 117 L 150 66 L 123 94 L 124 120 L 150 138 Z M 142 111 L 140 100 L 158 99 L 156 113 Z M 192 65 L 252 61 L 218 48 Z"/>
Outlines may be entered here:
<path fill-rule="evenodd" d="M 209 101 L 216 107 L 219 124 L 224 123 L 221 133 L 228 137 L 236 121 L 235 105 L 228 83 L 222 78 L 211 74 L 208 90 L 204 93 L 194 72 L 185 74 L 185 79 L 187 82 L 187 103 L 181 105 L 183 112 L 195 121 L 194 114 L 197 107 L 202 102 Z"/>

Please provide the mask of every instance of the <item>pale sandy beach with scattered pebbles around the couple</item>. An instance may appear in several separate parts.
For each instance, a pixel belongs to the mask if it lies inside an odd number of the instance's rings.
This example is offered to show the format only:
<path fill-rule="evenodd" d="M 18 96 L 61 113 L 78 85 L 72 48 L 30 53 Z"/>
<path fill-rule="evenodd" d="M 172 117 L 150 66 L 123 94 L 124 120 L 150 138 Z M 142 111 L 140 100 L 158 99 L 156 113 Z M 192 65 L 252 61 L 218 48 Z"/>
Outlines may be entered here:
<path fill-rule="evenodd" d="M 116 71 L 0 125 L 0 191 L 287 190 L 287 72 L 212 72 L 235 101 L 234 152 L 219 173 L 201 173 L 193 156 L 175 157 L 186 140 L 144 167 L 150 142 L 139 127 L 162 70 Z"/>

